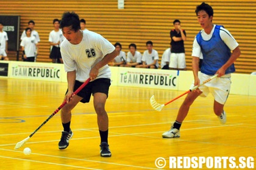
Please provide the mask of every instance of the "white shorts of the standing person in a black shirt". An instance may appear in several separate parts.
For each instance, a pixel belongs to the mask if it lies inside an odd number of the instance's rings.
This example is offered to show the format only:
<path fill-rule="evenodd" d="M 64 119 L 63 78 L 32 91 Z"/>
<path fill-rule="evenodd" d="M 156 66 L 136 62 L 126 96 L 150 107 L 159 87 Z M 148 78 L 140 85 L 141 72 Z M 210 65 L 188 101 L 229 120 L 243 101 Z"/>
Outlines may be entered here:
<path fill-rule="evenodd" d="M 186 68 L 185 53 L 171 53 L 169 67 L 177 68 L 177 69 L 185 69 Z"/>

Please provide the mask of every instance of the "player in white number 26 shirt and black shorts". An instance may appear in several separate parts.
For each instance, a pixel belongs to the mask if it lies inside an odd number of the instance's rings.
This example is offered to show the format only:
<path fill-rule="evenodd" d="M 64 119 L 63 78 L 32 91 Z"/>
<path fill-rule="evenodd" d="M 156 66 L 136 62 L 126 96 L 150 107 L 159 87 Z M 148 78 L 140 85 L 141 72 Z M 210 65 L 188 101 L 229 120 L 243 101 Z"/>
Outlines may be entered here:
<path fill-rule="evenodd" d="M 60 52 L 67 72 L 68 90 L 64 98 L 67 104 L 61 111 L 63 132 L 59 149 L 67 148 L 69 139 L 73 136 L 70 129 L 71 110 L 79 101 L 88 103 L 92 94 L 101 136 L 101 157 L 111 157 L 112 154 L 108 146 L 108 115 L 105 111 L 105 102 L 108 97 L 111 77 L 107 63 L 117 55 L 115 47 L 98 33 L 82 32 L 79 16 L 74 12 L 63 13 L 60 28 L 66 38 L 60 46 Z M 73 95 L 73 92 L 88 78 L 91 80 L 90 83 L 77 95 Z"/>

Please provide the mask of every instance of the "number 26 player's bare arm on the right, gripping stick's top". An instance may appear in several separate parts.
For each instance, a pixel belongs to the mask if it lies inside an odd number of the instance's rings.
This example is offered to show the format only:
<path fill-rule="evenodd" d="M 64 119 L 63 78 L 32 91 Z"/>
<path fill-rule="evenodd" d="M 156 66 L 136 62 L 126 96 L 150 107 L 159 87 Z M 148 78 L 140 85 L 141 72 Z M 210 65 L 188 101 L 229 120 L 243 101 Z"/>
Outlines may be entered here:
<path fill-rule="evenodd" d="M 107 55 L 105 55 L 104 58 L 101 61 L 99 61 L 99 63 L 97 63 L 93 68 L 91 68 L 91 71 L 90 71 L 91 80 L 94 80 L 97 77 L 99 73 L 99 69 L 101 69 L 101 67 L 110 63 L 110 61 L 112 61 L 117 55 L 118 53 L 116 52 L 116 50 L 113 50 L 112 53 L 108 53 Z"/>

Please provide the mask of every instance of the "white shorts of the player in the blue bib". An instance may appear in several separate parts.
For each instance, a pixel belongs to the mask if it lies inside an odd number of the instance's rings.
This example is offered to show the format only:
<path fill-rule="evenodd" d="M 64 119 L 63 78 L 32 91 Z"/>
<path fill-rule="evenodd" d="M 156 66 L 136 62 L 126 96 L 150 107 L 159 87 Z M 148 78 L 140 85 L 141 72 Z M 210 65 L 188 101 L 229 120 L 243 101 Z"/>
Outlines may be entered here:
<path fill-rule="evenodd" d="M 205 75 L 204 73 L 199 73 L 198 77 L 200 82 L 202 83 L 203 81 L 207 80 L 212 76 Z M 223 77 L 217 77 L 199 87 L 199 89 L 202 91 L 202 94 L 200 96 L 207 97 L 210 92 L 218 103 L 225 104 L 227 101 L 227 97 L 229 97 L 230 84 L 230 74 L 224 75 Z M 194 83 L 191 85 L 191 88 L 192 87 L 194 87 Z"/>

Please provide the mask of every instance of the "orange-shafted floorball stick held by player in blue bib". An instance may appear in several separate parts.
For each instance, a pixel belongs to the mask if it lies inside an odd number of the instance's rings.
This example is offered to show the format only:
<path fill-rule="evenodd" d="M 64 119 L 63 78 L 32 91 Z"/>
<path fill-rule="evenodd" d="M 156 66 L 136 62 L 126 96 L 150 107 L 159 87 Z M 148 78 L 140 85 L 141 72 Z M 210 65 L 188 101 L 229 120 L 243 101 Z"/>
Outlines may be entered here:
<path fill-rule="evenodd" d="M 202 86 L 203 84 L 207 83 L 208 81 L 211 81 L 213 80 L 214 78 L 218 77 L 218 75 L 214 75 L 213 77 L 210 77 L 208 78 L 207 80 L 205 80 L 203 83 L 197 85 L 197 86 L 194 86 L 193 88 L 187 90 L 186 92 L 184 92 L 183 94 L 177 96 L 176 98 L 173 98 L 172 100 L 168 101 L 167 103 L 165 104 L 160 104 L 160 103 L 157 103 L 157 101 L 155 101 L 155 96 L 152 95 L 152 97 L 150 98 L 150 104 L 151 106 L 153 107 L 153 109 L 157 110 L 157 111 L 161 111 L 163 109 L 164 106 L 166 106 L 167 104 L 171 103 L 172 101 L 174 100 L 177 100 L 178 98 L 182 97 L 183 95 L 185 94 L 188 94 L 190 92 L 192 92 L 193 90 L 197 89 L 199 86 Z"/>

